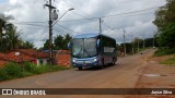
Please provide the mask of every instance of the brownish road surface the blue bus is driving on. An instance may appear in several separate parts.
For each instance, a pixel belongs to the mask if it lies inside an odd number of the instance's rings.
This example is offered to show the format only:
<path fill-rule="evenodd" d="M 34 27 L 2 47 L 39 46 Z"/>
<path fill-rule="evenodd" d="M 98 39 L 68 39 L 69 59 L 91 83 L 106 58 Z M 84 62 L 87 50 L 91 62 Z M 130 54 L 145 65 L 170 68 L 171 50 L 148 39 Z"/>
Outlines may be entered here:
<path fill-rule="evenodd" d="M 139 71 L 144 64 L 143 58 L 152 52 L 153 50 L 145 50 L 142 56 L 119 58 L 116 65 L 106 66 L 103 70 L 86 69 L 79 71 L 72 69 L 1 82 L 0 88 L 135 88 L 139 78 Z M 61 97 L 67 98 L 66 96 Z M 75 96 L 71 97 L 77 98 Z"/>

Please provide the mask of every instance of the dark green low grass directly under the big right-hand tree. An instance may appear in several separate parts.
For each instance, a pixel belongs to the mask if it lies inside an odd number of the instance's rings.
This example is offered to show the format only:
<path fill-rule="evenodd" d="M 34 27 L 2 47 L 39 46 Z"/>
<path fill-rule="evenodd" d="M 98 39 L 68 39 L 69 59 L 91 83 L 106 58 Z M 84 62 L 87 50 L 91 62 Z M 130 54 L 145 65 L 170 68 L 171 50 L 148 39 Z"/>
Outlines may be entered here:
<path fill-rule="evenodd" d="M 167 54 L 173 54 L 175 53 L 175 49 L 168 49 L 168 48 L 164 48 L 164 49 L 159 49 L 154 52 L 155 57 L 162 57 L 162 56 L 167 56 Z"/>

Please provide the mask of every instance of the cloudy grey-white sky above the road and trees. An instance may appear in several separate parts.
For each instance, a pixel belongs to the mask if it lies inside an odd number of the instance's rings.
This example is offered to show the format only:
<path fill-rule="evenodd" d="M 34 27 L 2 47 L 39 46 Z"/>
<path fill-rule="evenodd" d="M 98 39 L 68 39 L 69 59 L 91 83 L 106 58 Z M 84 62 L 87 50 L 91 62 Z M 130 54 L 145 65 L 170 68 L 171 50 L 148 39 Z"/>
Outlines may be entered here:
<path fill-rule="evenodd" d="M 22 39 L 39 48 L 49 38 L 46 3 L 48 0 L 0 0 L 0 13 L 12 15 L 14 20 L 10 22 L 21 30 Z M 100 32 L 101 17 L 102 33 L 118 44 L 124 41 L 124 30 L 126 41 L 151 38 L 156 33 L 152 23 L 155 11 L 165 3 L 165 0 L 52 0 L 58 19 L 61 17 L 52 27 L 52 37 Z M 68 11 L 71 8 L 74 10 Z"/>

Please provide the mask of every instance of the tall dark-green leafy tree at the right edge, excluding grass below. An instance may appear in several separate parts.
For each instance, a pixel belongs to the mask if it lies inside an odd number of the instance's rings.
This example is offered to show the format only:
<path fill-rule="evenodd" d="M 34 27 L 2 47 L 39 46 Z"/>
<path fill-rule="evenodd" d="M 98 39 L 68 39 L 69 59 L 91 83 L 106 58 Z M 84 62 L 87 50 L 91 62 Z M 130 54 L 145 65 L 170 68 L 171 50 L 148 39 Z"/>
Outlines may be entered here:
<path fill-rule="evenodd" d="M 166 1 L 166 5 L 155 12 L 153 23 L 158 26 L 159 45 L 175 48 L 175 0 Z"/>

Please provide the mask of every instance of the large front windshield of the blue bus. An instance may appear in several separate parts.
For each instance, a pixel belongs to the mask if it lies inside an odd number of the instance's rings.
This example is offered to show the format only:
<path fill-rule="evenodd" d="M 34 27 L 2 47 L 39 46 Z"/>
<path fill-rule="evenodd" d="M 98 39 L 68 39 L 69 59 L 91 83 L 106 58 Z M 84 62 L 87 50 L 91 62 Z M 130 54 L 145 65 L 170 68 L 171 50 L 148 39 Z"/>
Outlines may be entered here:
<path fill-rule="evenodd" d="M 97 54 L 96 38 L 77 38 L 72 40 L 73 58 L 91 58 Z"/>

